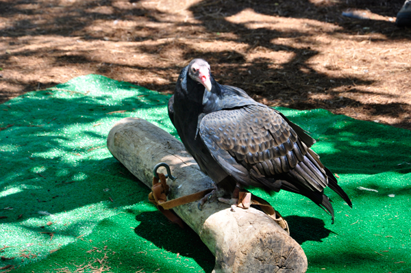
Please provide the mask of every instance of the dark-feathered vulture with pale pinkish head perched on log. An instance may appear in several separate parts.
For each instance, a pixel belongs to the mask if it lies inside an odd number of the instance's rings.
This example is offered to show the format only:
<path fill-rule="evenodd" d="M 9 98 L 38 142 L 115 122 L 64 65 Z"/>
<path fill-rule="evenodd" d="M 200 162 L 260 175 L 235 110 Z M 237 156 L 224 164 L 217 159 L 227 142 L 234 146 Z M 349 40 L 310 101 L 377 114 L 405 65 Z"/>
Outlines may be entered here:
<path fill-rule="evenodd" d="M 310 148 L 315 140 L 244 90 L 217 83 L 205 60 L 192 60 L 182 69 L 168 106 L 186 150 L 217 184 L 229 180 L 302 194 L 328 211 L 333 222 L 327 185 L 352 207 Z"/>

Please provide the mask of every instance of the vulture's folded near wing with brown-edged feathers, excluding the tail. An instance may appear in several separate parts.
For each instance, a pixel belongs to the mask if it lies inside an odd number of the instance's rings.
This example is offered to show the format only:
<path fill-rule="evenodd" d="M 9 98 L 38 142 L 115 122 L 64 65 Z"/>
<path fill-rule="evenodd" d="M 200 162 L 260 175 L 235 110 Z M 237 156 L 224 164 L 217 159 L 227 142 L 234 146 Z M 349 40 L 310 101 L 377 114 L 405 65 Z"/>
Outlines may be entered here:
<path fill-rule="evenodd" d="M 208 123 L 218 129 L 207 132 Z M 294 183 L 308 190 L 322 192 L 327 187 L 327 175 L 318 156 L 269 107 L 251 105 L 214 112 L 203 118 L 201 126 L 201 138 L 212 138 L 217 146 L 259 177 L 290 173 Z"/>

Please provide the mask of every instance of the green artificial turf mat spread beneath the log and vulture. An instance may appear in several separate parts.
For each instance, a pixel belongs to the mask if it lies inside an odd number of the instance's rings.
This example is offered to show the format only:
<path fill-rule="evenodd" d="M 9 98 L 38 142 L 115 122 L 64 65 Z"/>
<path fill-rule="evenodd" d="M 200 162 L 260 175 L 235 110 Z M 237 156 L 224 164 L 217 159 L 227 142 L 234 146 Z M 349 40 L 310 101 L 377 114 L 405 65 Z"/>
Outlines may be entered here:
<path fill-rule="evenodd" d="M 10 246 L 0 250 L 0 268 L 212 271 L 214 257 L 197 234 L 170 224 L 105 146 L 114 123 L 129 116 L 177 136 L 168 99 L 88 75 L 0 105 L 0 249 Z M 411 272 L 411 132 L 323 109 L 279 110 L 318 140 L 314 151 L 353 201 L 350 209 L 326 190 L 331 224 L 308 198 L 251 189 L 288 220 L 308 272 Z"/>

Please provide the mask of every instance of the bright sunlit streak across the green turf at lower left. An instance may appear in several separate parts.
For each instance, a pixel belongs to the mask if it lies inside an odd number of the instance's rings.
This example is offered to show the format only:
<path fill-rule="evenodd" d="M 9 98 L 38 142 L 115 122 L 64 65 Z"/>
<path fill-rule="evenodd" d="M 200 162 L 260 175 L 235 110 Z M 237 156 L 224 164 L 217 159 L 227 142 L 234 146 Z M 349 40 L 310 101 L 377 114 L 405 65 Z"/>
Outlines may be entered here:
<path fill-rule="evenodd" d="M 110 201 L 91 203 L 85 207 L 78 207 L 70 211 L 53 213 L 52 211 L 36 211 L 36 215 L 18 222 L 0 226 L 4 242 L 14 242 L 14 246 L 24 246 L 26 252 L 33 254 L 21 265 L 32 263 L 33 260 L 45 259 L 52 252 L 64 246 L 75 243 L 79 239 L 88 237 L 103 220 L 112 218 L 129 209 L 136 211 L 154 211 L 155 207 L 149 203 L 140 203 L 133 206 L 112 208 Z M 147 207 L 147 205 L 149 205 Z M 24 236 L 18 236 L 24 234 Z M 17 235 L 17 236 L 16 236 Z M 109 238 L 107 238 L 109 239 Z M 8 255 L 19 255 L 20 248 L 14 248 Z"/>

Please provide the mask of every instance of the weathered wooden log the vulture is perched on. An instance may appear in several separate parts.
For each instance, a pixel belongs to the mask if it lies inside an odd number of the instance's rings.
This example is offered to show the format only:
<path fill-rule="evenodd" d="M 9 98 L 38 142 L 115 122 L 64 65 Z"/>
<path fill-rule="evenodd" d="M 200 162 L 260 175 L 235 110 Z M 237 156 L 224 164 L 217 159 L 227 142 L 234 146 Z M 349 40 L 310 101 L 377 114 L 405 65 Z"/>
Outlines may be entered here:
<path fill-rule="evenodd" d="M 173 135 L 140 118 L 124 118 L 108 135 L 108 149 L 142 183 L 151 187 L 153 167 L 169 164 L 175 181 L 167 179 L 169 198 L 178 198 L 214 186 L 199 170 L 184 145 Z M 165 168 L 158 172 L 166 174 Z M 197 202 L 173 209 L 216 257 L 213 272 L 306 272 L 301 246 L 276 222 L 257 209 L 230 211 L 229 205 Z"/>

